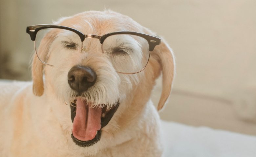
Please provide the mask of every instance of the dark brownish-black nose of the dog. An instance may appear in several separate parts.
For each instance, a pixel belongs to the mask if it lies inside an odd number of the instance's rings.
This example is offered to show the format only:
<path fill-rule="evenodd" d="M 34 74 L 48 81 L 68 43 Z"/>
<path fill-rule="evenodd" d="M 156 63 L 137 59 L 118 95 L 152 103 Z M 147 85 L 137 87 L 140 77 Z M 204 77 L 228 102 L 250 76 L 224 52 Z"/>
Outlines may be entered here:
<path fill-rule="evenodd" d="M 68 73 L 69 86 L 82 93 L 93 86 L 96 81 L 96 73 L 88 66 L 76 65 Z"/>

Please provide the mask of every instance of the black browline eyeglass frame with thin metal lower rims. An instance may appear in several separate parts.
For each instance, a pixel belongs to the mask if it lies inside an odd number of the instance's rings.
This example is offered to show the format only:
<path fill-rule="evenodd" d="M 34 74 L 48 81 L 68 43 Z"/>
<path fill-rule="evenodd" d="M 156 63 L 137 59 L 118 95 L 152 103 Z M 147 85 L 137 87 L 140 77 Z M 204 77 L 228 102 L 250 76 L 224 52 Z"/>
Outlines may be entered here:
<path fill-rule="evenodd" d="M 39 30 L 41 30 L 41 29 L 46 29 L 46 28 L 59 28 L 59 29 L 70 30 L 70 31 L 76 33 L 80 37 L 82 44 L 83 44 L 83 41 L 85 40 L 85 38 L 97 38 L 97 39 L 99 39 L 99 42 L 102 45 L 104 40 L 107 37 L 112 36 L 112 35 L 118 35 L 118 34 L 136 35 L 136 36 L 144 38 L 148 42 L 149 51 L 150 52 L 154 50 L 156 45 L 161 44 L 161 38 L 158 37 L 158 36 L 151 36 L 151 35 L 147 35 L 147 34 L 143 34 L 143 33 L 130 32 L 130 31 L 118 31 L 118 32 L 107 33 L 107 34 L 104 34 L 102 36 L 99 36 L 99 35 L 83 34 L 82 32 L 80 32 L 80 31 L 78 31 L 78 30 L 76 30 L 74 28 L 66 27 L 66 26 L 56 26 L 56 25 L 33 25 L 33 26 L 27 26 L 27 30 L 26 31 L 30 35 L 31 40 L 35 41 L 37 32 Z M 40 60 L 39 57 L 38 57 L 38 59 Z M 149 58 L 148 58 L 148 61 L 149 61 Z M 44 61 L 41 61 L 41 62 L 46 64 L 46 65 L 50 65 L 50 64 L 45 63 Z M 50 65 L 50 66 L 53 66 L 53 65 Z M 146 66 L 147 66 L 147 64 L 145 65 L 145 67 Z M 138 72 L 135 72 L 135 73 L 123 73 L 123 72 L 118 72 L 118 73 L 122 73 L 122 74 L 136 74 L 136 73 L 139 73 L 142 70 L 144 70 L 144 68 L 141 69 Z"/>

